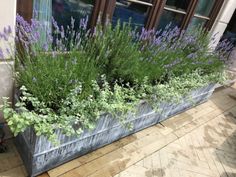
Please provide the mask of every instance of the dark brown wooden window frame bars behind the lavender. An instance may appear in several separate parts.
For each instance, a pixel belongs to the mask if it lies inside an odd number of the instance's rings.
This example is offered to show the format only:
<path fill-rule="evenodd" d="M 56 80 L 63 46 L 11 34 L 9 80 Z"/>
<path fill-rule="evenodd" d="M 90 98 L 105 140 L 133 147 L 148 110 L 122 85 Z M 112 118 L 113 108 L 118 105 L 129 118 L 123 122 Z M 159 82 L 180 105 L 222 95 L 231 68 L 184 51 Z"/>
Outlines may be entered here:
<path fill-rule="evenodd" d="M 153 0 L 151 3 L 148 2 L 142 3 L 141 2 L 142 0 L 128 0 L 128 1 L 133 3 L 143 4 L 150 7 L 144 25 L 144 27 L 148 30 L 154 29 L 156 28 L 156 26 L 158 26 L 161 15 L 164 12 L 164 10 L 176 11 L 176 13 L 180 13 L 179 10 L 174 10 L 174 9 L 171 10 L 171 8 L 165 7 L 167 0 Z M 180 26 L 182 30 L 188 27 L 193 17 L 206 19 L 207 22 L 205 23 L 204 28 L 208 31 L 211 30 L 217 18 L 217 15 L 224 3 L 224 0 L 215 1 L 209 14 L 209 17 L 205 17 L 195 14 L 198 1 L 199 0 L 190 0 L 188 8 L 186 9 L 186 12 L 184 12 L 185 16 Z M 94 0 L 94 8 L 89 19 L 89 28 L 94 28 L 98 22 L 105 24 L 107 20 L 111 21 L 115 10 L 115 6 L 116 6 L 116 0 Z M 30 21 L 33 14 L 33 0 L 17 0 L 17 13 L 22 15 L 27 21 Z"/>

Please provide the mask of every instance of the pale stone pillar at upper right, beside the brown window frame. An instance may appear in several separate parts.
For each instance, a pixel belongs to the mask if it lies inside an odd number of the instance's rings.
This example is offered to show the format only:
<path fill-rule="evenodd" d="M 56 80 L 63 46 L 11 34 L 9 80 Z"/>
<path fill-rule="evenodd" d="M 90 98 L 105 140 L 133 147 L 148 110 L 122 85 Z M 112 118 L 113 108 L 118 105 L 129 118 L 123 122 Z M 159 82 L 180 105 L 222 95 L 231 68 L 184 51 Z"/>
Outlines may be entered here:
<path fill-rule="evenodd" d="M 211 30 L 213 36 L 215 35 L 215 41 L 216 41 L 216 43 L 212 44 L 213 48 L 217 45 L 221 36 L 223 35 L 235 9 L 236 9 L 236 0 L 224 1 L 223 7 L 221 8 Z"/>

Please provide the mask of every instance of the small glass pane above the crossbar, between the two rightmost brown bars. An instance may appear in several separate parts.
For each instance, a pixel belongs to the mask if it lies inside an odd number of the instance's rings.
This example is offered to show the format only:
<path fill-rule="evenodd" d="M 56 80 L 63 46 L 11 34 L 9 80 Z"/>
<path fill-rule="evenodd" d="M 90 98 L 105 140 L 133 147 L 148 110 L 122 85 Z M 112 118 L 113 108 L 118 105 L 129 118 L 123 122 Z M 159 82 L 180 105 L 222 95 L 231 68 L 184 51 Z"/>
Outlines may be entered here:
<path fill-rule="evenodd" d="M 198 0 L 196 14 L 209 16 L 215 0 Z"/>

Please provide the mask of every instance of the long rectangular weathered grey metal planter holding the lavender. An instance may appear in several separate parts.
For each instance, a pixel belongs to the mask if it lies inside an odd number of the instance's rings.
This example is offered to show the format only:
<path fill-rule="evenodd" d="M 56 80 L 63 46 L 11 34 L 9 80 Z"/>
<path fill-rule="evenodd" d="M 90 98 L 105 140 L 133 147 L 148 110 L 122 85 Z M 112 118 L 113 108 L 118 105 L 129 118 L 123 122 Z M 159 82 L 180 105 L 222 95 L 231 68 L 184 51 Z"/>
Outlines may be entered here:
<path fill-rule="evenodd" d="M 128 115 L 127 123 L 133 125 L 132 130 L 124 128 L 110 115 L 103 115 L 93 131 L 85 130 L 79 136 L 67 137 L 57 131 L 60 145 L 55 147 L 45 137 L 36 136 L 33 129 L 27 129 L 16 137 L 16 147 L 24 161 L 30 176 L 36 176 L 44 171 L 63 164 L 71 159 L 110 144 L 122 137 L 155 125 L 171 116 L 183 112 L 197 104 L 205 102 L 214 91 L 214 85 L 197 89 L 178 103 L 162 103 L 160 110 L 155 112 L 146 103 L 138 106 L 138 114 Z M 191 99 L 189 99 L 191 97 Z"/>

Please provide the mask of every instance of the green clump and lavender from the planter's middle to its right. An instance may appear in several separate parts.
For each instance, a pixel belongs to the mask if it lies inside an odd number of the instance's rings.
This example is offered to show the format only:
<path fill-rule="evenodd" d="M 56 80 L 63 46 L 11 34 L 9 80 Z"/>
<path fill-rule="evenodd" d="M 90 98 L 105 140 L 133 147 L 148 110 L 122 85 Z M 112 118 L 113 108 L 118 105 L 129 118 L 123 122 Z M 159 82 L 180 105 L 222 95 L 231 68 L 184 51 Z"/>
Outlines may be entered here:
<path fill-rule="evenodd" d="M 170 73 L 222 71 L 224 63 L 210 51 L 209 43 L 210 34 L 202 28 L 185 32 L 167 28 L 157 35 L 145 30 L 137 33 L 129 24 L 118 22 L 115 27 L 98 26 L 84 48 L 109 82 L 122 79 L 132 85 L 141 84 L 145 77 L 150 83 L 165 81 Z"/>

